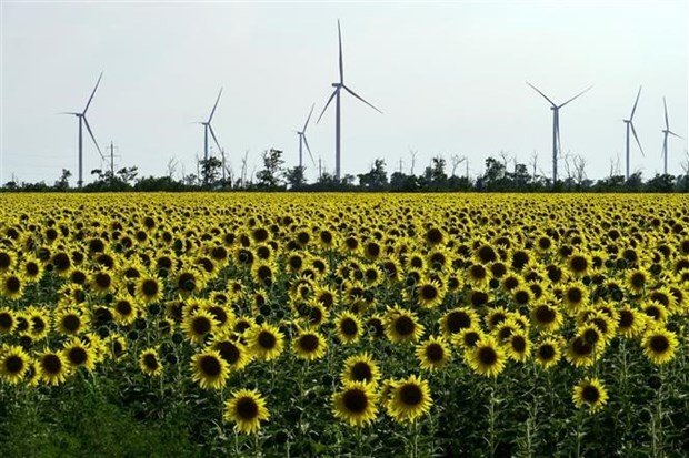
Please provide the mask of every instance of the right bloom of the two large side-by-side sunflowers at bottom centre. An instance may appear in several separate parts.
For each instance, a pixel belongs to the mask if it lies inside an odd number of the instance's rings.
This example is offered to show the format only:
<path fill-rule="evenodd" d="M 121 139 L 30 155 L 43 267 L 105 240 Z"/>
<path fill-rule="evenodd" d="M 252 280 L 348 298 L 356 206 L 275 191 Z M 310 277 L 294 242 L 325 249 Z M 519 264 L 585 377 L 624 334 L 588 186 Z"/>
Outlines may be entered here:
<path fill-rule="evenodd" d="M 399 423 L 415 421 L 430 410 L 432 399 L 428 381 L 412 375 L 393 380 L 387 401 L 388 414 Z"/>

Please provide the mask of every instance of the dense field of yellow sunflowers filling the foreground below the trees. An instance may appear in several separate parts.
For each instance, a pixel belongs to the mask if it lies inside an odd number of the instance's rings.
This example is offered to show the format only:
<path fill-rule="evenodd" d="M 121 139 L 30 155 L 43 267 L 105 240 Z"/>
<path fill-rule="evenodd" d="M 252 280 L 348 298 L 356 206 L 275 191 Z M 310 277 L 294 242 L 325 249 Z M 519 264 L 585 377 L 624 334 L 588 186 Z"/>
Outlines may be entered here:
<path fill-rule="evenodd" d="M 689 455 L 680 195 L 0 195 L 0 454 Z"/>

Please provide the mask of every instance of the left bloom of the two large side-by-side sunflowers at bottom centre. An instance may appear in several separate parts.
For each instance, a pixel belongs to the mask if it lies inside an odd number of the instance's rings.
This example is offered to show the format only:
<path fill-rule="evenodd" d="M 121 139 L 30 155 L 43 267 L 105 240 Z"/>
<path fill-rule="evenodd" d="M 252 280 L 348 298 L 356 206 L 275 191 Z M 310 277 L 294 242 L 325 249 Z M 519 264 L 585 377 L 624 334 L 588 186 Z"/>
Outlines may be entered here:
<path fill-rule="evenodd" d="M 347 381 L 342 390 L 332 395 L 332 414 L 350 426 L 361 428 L 376 419 L 377 401 L 371 385 Z"/>

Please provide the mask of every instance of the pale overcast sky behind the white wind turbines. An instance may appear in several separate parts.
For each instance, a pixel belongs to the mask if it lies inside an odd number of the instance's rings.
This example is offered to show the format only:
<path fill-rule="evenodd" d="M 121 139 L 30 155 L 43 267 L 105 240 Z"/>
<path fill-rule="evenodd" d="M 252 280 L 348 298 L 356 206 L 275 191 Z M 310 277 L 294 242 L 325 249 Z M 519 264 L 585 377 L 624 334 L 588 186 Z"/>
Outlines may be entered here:
<path fill-rule="evenodd" d="M 342 96 L 342 172 L 375 157 L 416 173 L 433 155 L 469 157 L 483 171 L 501 150 L 551 174 L 548 103 L 595 88 L 560 113 L 563 153 L 588 161 L 597 179 L 620 157 L 635 116 L 646 156 L 631 169 L 662 170 L 662 96 L 670 129 L 687 136 L 687 1 L 481 1 L 453 3 L 137 3 L 2 1 L 0 182 L 52 183 L 77 175 L 78 122 L 103 71 L 88 119 L 101 149 L 117 146 L 119 166 L 164 174 L 174 156 L 187 173 L 202 155 L 202 126 L 220 86 L 213 129 L 236 173 L 249 151 L 284 151 L 298 161 L 294 129 L 317 114 L 337 79 L 337 19 L 344 80 L 379 114 Z M 314 121 L 314 120 L 312 120 Z M 334 167 L 334 111 L 307 136 L 316 160 Z M 669 171 L 680 173 L 687 141 L 670 139 Z M 308 160 L 308 155 L 307 155 Z M 84 176 L 101 160 L 84 131 Z M 316 169 L 308 163 L 308 175 Z M 563 167 L 560 165 L 561 174 Z M 181 166 L 178 173 L 181 172 Z M 462 165 L 463 172 L 463 165 Z M 76 179 L 72 179 L 72 184 Z"/>

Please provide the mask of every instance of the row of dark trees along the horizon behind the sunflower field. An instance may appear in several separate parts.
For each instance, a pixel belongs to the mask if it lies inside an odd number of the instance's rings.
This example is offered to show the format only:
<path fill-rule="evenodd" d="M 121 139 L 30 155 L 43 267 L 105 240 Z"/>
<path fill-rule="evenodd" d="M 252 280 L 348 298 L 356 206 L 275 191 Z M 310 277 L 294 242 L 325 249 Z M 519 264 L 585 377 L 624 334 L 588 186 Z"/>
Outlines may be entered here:
<path fill-rule="evenodd" d="M 246 166 L 240 176 L 233 176 L 224 162 L 218 157 L 199 160 L 197 173 L 183 174 L 176 177 L 176 166 L 168 163 L 168 174 L 164 176 L 139 177 L 136 166 L 114 170 L 93 170 L 94 180 L 83 186 L 86 192 L 104 191 L 392 191 L 392 192 L 689 192 L 689 160 L 683 164 L 682 175 L 656 175 L 643 181 L 641 172 L 636 172 L 628 180 L 620 173 L 619 163 L 611 163 L 607 177 L 593 181 L 586 173 L 586 160 L 580 155 L 567 155 L 563 159 L 565 176 L 552 183 L 542 171 L 537 170 L 537 156 L 532 156 L 530 164 L 518 163 L 507 153 L 498 157 L 488 157 L 482 175 L 471 180 L 468 174 L 468 164 L 465 157 L 452 156 L 450 163 L 442 156 L 436 156 L 430 164 L 417 175 L 413 173 L 416 154 L 412 155 L 412 165 L 409 173 L 401 167 L 391 174 L 386 170 L 382 159 L 373 161 L 366 173 L 344 175 L 340 180 L 330 173 L 319 173 L 316 182 L 306 180 L 306 167 L 284 167 L 282 151 L 267 150 L 262 153 L 262 169 L 247 176 Z M 460 176 L 457 172 L 465 163 L 466 173 Z M 71 172 L 62 170 L 61 176 L 49 185 L 39 183 L 6 183 L 2 191 L 71 191 L 69 179 Z"/>

